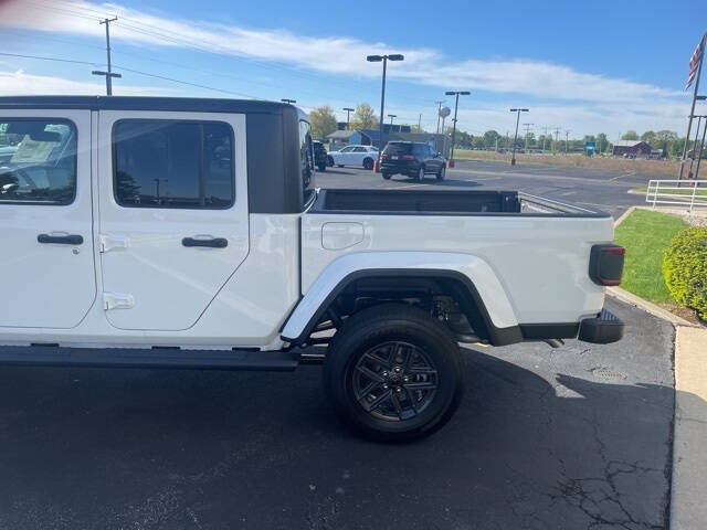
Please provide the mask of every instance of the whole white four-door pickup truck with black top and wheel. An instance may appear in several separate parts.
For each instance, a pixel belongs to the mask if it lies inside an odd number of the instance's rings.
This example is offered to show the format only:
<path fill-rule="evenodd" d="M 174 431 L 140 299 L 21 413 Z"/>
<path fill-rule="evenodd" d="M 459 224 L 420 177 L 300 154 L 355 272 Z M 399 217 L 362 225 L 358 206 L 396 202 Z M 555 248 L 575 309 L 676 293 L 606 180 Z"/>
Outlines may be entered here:
<path fill-rule="evenodd" d="M 0 98 L 0 363 L 292 370 L 410 439 L 460 342 L 612 342 L 609 215 L 506 191 L 316 190 L 276 103 Z"/>

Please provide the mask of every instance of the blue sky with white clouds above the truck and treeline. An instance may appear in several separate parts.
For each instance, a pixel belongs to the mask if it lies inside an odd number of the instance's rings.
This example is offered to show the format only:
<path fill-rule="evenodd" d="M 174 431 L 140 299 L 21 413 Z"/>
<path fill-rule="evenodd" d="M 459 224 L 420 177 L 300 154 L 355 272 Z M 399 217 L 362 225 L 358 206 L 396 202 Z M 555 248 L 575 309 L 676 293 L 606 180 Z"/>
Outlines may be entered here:
<path fill-rule="evenodd" d="M 705 0 L 0 0 L 0 53 L 103 67 L 97 19 L 112 14 L 113 61 L 123 73 L 115 94 L 289 97 L 305 110 L 330 105 L 344 119 L 341 107 L 380 105 L 380 64 L 365 55 L 403 53 L 390 67 L 386 106 L 398 121 L 422 114 L 434 129 L 434 102 L 445 89 L 469 89 L 458 126 L 472 134 L 505 134 L 515 126 L 508 108 L 523 105 L 536 134 L 559 127 L 610 138 L 627 129 L 684 134 L 687 62 L 707 29 Z M 91 70 L 0 54 L 0 94 L 101 94 Z"/>

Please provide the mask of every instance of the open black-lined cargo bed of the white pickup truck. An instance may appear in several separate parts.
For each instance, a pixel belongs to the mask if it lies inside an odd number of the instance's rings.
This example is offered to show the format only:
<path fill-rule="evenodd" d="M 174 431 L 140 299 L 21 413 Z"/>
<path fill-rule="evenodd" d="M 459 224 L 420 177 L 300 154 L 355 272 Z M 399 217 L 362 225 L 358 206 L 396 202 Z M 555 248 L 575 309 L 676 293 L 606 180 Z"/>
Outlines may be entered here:
<path fill-rule="evenodd" d="M 517 191 L 319 190 L 310 213 L 380 215 L 561 215 L 606 218 L 608 213 Z"/>

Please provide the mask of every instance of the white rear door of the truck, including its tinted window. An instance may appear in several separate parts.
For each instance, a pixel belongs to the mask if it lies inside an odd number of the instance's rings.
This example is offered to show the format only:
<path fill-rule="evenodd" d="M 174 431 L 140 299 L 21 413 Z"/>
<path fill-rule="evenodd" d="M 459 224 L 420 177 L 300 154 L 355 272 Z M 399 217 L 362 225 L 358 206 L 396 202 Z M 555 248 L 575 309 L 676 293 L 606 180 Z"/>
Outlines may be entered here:
<path fill-rule="evenodd" d="M 106 318 L 188 329 L 249 252 L 245 116 L 105 110 L 98 129 Z"/>

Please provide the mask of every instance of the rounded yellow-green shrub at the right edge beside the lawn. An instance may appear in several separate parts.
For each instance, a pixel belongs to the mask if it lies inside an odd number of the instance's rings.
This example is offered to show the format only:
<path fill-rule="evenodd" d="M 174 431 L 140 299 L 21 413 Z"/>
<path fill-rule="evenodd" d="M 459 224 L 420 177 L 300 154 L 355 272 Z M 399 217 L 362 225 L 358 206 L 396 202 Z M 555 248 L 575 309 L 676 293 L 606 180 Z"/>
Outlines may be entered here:
<path fill-rule="evenodd" d="M 707 319 L 707 226 L 679 232 L 665 250 L 663 277 L 678 304 Z"/>

